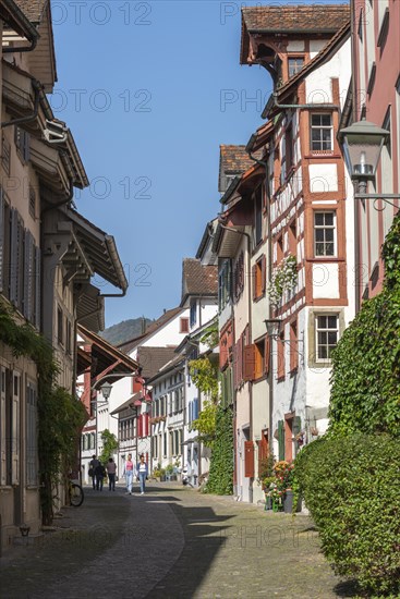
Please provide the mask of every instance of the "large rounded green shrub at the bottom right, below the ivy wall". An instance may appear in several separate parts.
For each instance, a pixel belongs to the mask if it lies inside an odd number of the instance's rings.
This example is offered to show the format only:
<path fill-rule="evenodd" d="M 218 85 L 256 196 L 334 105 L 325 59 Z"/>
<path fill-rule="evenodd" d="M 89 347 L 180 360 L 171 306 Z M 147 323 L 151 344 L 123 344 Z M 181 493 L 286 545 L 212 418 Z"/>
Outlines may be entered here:
<path fill-rule="evenodd" d="M 325 557 L 367 592 L 400 594 L 399 464 L 386 435 L 324 438 L 295 460 Z"/>

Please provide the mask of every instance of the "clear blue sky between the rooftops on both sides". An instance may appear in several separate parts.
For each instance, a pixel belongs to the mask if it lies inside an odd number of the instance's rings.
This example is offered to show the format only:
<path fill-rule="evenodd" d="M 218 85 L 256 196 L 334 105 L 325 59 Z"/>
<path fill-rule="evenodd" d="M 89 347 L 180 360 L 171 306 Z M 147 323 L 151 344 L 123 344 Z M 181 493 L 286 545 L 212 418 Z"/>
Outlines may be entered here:
<path fill-rule="evenodd" d="M 75 203 L 116 237 L 130 281 L 107 326 L 179 305 L 182 259 L 220 209 L 219 145 L 263 122 L 270 80 L 239 64 L 241 4 L 256 2 L 52 0 L 51 103 L 92 181 Z"/>

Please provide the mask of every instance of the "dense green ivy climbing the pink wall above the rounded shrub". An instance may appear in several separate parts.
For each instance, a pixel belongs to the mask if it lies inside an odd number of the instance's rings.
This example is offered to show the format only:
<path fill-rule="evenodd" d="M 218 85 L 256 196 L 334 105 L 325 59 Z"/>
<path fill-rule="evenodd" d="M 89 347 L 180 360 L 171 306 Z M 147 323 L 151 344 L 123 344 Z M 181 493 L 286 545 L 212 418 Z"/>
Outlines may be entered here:
<path fill-rule="evenodd" d="M 363 303 L 332 354 L 330 432 L 400 436 L 400 217 L 383 247 L 381 293 Z"/>

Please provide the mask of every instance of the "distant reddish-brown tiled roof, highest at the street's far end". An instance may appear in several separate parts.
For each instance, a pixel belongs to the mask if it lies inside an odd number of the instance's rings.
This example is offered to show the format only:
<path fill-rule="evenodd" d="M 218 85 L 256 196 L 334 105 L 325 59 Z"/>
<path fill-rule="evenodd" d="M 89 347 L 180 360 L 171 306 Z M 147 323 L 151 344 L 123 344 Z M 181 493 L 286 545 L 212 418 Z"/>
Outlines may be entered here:
<path fill-rule="evenodd" d="M 182 265 L 182 302 L 187 295 L 217 295 L 218 267 L 204 266 L 197 258 L 184 258 Z"/>

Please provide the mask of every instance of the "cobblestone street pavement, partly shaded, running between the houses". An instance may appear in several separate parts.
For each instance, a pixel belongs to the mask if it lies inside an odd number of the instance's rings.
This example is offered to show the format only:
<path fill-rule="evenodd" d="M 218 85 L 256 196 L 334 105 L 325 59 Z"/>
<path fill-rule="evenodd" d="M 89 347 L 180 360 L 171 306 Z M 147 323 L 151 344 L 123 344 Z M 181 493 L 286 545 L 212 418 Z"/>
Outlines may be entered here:
<path fill-rule="evenodd" d="M 177 484 L 145 496 L 85 489 L 32 547 L 0 560 L 1 599 L 352 597 L 294 519 Z"/>

